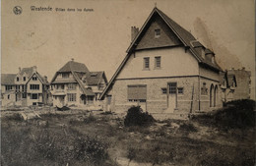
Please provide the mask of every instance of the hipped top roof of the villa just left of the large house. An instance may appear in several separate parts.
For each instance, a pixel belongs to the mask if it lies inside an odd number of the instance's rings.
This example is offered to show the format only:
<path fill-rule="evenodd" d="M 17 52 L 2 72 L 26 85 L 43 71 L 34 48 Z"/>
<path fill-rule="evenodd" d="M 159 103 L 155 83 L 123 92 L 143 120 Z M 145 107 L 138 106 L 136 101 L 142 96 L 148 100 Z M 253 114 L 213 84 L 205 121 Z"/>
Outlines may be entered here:
<path fill-rule="evenodd" d="M 58 72 L 89 72 L 87 66 L 85 64 L 69 61 L 67 62 Z"/>

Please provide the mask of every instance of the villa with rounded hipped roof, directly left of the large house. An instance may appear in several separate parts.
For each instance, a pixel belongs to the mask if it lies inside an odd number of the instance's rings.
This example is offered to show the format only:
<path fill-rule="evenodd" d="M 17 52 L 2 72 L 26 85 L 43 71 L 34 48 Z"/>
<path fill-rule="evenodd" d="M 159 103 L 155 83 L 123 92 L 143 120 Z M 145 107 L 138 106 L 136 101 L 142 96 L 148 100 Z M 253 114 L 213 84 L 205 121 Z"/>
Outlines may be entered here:
<path fill-rule="evenodd" d="M 90 72 L 85 64 L 72 59 L 52 79 L 53 106 L 98 106 L 106 83 L 104 72 Z"/>

